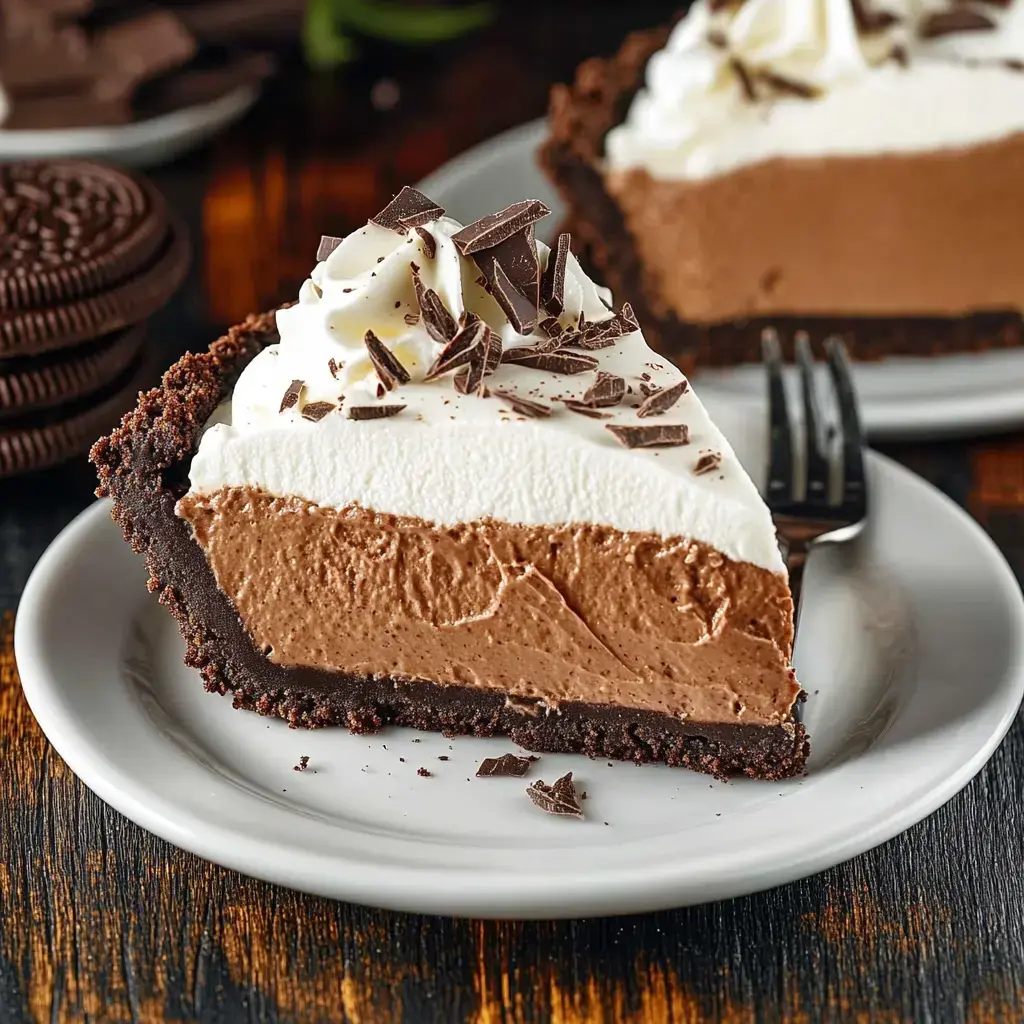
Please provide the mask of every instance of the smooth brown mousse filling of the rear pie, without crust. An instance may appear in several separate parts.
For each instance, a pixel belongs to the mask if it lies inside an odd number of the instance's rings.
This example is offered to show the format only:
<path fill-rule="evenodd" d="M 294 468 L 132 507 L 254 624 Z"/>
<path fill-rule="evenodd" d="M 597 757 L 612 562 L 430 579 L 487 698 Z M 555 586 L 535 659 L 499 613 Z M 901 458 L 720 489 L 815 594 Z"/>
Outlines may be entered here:
<path fill-rule="evenodd" d="M 1024 133 L 984 145 L 770 160 L 707 180 L 605 187 L 655 311 L 959 316 L 1024 307 Z"/>

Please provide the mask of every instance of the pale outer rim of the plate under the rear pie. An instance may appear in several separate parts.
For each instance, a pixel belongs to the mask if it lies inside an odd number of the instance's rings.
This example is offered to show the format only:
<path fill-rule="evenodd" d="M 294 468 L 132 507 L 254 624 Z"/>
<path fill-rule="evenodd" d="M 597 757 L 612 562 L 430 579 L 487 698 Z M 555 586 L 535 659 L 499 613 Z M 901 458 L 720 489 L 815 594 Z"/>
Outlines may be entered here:
<path fill-rule="evenodd" d="M 432 195 L 434 190 L 451 191 L 467 177 L 483 173 L 487 165 L 511 148 L 536 150 L 546 137 L 547 124 L 547 118 L 541 117 L 493 135 L 445 161 L 423 178 L 416 187 L 427 196 Z M 984 357 L 986 354 L 988 353 L 977 353 L 979 357 Z M 1024 349 L 1021 351 L 1021 356 L 1024 359 Z M 923 365 L 927 362 L 928 366 L 936 364 L 941 366 L 943 357 L 921 358 Z M 709 397 L 714 396 L 721 401 L 733 402 L 752 413 L 765 411 L 763 400 L 751 394 L 720 389 L 714 380 L 708 378 L 701 380 L 699 375 L 695 380 Z M 941 399 L 929 399 L 925 396 L 907 400 L 904 396 L 898 396 L 865 400 L 862 395 L 860 404 L 864 428 L 872 440 L 944 438 L 979 432 L 991 433 L 1024 424 L 1024 385 L 1017 389 L 1008 388 L 990 397 L 968 394 L 943 396 Z M 939 419 L 935 418 L 936 414 L 939 414 Z"/>

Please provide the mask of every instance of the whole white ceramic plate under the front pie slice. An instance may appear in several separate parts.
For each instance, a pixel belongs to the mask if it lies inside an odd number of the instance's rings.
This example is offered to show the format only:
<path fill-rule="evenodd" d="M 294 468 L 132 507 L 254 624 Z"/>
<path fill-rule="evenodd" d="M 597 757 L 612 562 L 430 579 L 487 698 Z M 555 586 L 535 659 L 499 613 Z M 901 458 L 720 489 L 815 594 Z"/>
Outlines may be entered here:
<path fill-rule="evenodd" d="M 716 413 L 756 461 L 735 418 Z M 18 669 L 86 784 L 157 835 L 249 874 L 476 916 L 737 896 L 852 857 L 935 810 L 985 763 L 1021 699 L 1024 602 L 1006 562 L 930 485 L 881 457 L 868 465 L 869 527 L 808 569 L 796 660 L 813 753 L 794 781 L 721 783 L 554 755 L 527 779 L 477 779 L 481 758 L 513 745 L 294 731 L 233 711 L 182 666 L 176 630 L 105 502 L 29 581 Z M 548 817 L 523 792 L 570 769 L 589 794 L 585 821 Z"/>

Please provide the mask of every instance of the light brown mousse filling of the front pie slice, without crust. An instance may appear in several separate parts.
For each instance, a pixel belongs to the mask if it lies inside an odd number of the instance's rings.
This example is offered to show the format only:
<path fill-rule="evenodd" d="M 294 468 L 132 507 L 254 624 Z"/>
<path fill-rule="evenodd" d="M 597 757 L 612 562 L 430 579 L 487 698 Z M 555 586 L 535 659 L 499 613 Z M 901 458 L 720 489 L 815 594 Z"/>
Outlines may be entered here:
<path fill-rule="evenodd" d="M 800 692 L 784 580 L 605 526 L 439 527 L 251 488 L 187 496 L 221 590 L 271 662 L 778 725 Z"/>

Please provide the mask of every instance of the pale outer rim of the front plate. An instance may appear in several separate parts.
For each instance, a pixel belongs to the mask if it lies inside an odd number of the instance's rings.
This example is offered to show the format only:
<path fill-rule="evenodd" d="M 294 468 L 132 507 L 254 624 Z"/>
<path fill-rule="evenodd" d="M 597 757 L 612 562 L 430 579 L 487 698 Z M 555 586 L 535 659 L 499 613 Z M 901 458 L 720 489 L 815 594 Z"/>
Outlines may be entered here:
<path fill-rule="evenodd" d="M 819 842 L 788 851 L 791 856 L 778 858 L 768 865 L 756 865 L 753 871 L 733 867 L 711 882 L 699 879 L 695 882 L 680 868 L 679 862 L 673 862 L 663 864 L 657 873 L 644 872 L 642 879 L 626 877 L 622 868 L 603 868 L 602 873 L 589 879 L 582 876 L 577 885 L 566 886 L 559 879 L 554 888 L 544 880 L 519 878 L 507 891 L 496 894 L 489 888 L 495 884 L 494 877 L 485 873 L 463 874 L 454 883 L 451 869 L 445 872 L 408 863 L 366 863 L 355 860 L 350 853 L 348 856 L 344 853 L 328 856 L 323 851 L 302 850 L 297 856 L 294 846 L 270 843 L 262 838 L 254 842 L 252 837 L 230 828 L 199 821 L 198 813 L 183 808 L 180 803 L 174 808 L 176 817 L 167 813 L 164 798 L 156 804 L 151 798 L 147 803 L 144 783 L 119 775 L 116 764 L 90 744 L 88 733 L 76 729 L 67 703 L 59 699 L 67 684 L 47 675 L 46 654 L 41 649 L 46 592 L 59 581 L 67 557 L 87 541 L 92 531 L 116 529 L 110 520 L 109 501 L 88 506 L 65 527 L 29 579 L 14 624 L 14 651 L 23 688 L 53 748 L 100 799 L 142 827 L 198 856 L 278 885 L 394 910 L 520 919 L 642 912 L 761 891 L 806 878 L 857 856 L 946 803 L 989 760 L 1012 725 L 1024 694 L 1024 595 L 1001 552 L 985 530 L 938 488 L 884 456 L 870 453 L 869 458 L 883 474 L 896 474 L 904 483 L 929 493 L 959 527 L 972 535 L 980 546 L 978 550 L 987 553 L 986 579 L 991 580 L 992 594 L 999 599 L 1006 597 L 1013 605 L 1009 620 L 1012 649 L 1008 651 L 1007 674 L 1001 680 L 1001 696 L 995 706 L 1000 709 L 1000 717 L 986 739 L 956 770 L 925 786 L 898 812 L 867 823 L 858 819 L 856 828 L 847 824 L 824 845 Z M 127 582 L 122 585 L 129 586 Z M 240 839 L 245 842 L 240 843 Z M 698 883 L 700 894 L 694 897 L 693 889 Z M 612 885 L 617 888 L 609 891 Z M 523 896 L 527 886 L 530 892 Z M 529 908 L 525 913 L 522 911 L 524 903 Z"/>

